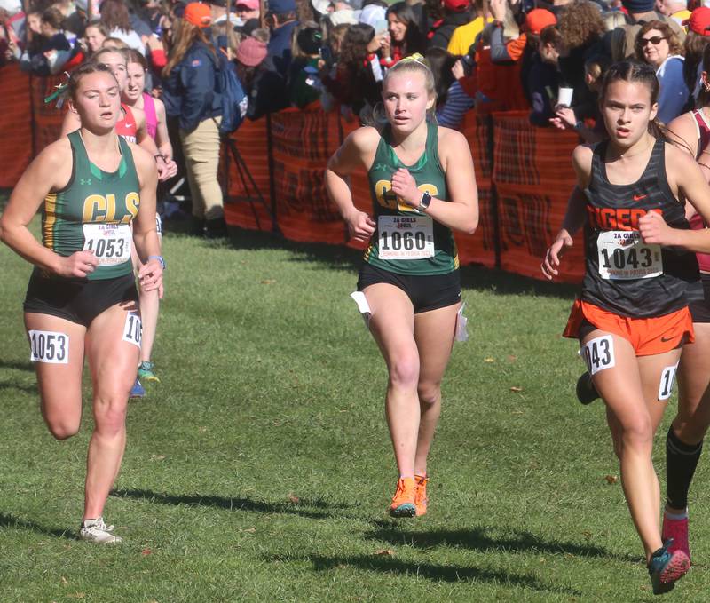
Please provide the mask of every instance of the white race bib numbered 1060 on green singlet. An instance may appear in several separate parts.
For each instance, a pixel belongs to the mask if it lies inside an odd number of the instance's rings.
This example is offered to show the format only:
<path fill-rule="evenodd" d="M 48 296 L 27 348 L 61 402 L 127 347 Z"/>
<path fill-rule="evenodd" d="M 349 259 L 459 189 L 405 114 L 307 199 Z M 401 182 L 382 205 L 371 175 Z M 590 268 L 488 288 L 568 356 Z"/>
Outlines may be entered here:
<path fill-rule="evenodd" d="M 434 223 L 430 216 L 380 216 L 380 259 L 434 257 Z"/>

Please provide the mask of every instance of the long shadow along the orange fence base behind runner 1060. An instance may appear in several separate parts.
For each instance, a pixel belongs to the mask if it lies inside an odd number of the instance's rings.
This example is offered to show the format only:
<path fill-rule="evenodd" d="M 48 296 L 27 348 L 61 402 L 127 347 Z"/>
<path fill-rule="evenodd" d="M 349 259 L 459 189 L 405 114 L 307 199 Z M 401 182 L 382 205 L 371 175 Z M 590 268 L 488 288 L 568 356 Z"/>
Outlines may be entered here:
<path fill-rule="evenodd" d="M 290 261 L 313 262 L 336 270 L 348 270 L 353 277 L 362 263 L 362 251 L 344 245 L 289 241 L 280 234 L 233 227 L 230 227 L 229 234 L 228 242 L 205 240 L 204 244 L 229 245 L 236 250 L 286 250 L 293 254 Z M 564 299 L 573 298 L 579 289 L 575 285 L 538 281 L 483 266 L 461 266 L 461 287 L 503 295 L 524 293 Z"/>

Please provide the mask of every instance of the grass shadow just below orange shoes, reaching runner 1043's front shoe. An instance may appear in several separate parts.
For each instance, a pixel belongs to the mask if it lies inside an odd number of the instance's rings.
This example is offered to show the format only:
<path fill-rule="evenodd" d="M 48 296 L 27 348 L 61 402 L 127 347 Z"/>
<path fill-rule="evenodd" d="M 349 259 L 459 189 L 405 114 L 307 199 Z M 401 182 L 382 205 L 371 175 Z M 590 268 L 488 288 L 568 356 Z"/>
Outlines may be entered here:
<path fill-rule="evenodd" d="M 375 522 L 379 527 L 364 536 L 371 540 L 390 544 L 408 544 L 415 548 L 429 549 L 437 546 L 458 546 L 481 552 L 533 552 L 593 557 L 636 562 L 641 557 L 618 555 L 603 547 L 569 542 L 548 542 L 527 531 L 514 531 L 512 535 L 489 536 L 488 532 L 500 528 L 472 528 L 461 530 L 433 530 L 430 532 L 406 532 L 398 524 L 386 521 Z"/>

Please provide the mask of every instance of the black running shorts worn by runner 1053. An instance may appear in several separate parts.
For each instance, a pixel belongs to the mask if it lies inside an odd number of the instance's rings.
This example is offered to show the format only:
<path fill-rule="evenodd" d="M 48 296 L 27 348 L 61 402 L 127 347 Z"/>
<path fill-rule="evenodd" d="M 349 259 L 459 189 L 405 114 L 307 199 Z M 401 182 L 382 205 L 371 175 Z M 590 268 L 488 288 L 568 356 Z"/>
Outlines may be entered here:
<path fill-rule="evenodd" d="M 50 314 L 89 327 L 100 313 L 121 302 L 138 301 L 132 273 L 115 279 L 49 279 L 35 270 L 29 279 L 24 310 Z"/>

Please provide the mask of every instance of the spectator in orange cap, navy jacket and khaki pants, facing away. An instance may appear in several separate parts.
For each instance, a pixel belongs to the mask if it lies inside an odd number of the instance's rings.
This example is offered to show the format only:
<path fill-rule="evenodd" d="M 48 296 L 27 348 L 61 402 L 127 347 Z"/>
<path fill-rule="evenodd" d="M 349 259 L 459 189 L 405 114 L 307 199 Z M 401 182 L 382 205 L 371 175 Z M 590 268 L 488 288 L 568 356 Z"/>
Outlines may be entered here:
<path fill-rule="evenodd" d="M 209 5 L 185 6 L 177 22 L 168 64 L 162 71 L 166 113 L 177 118 L 195 226 L 208 236 L 226 234 L 222 189 L 217 181 L 222 97 L 217 91 L 219 60 L 210 42 Z"/>

